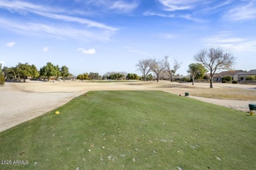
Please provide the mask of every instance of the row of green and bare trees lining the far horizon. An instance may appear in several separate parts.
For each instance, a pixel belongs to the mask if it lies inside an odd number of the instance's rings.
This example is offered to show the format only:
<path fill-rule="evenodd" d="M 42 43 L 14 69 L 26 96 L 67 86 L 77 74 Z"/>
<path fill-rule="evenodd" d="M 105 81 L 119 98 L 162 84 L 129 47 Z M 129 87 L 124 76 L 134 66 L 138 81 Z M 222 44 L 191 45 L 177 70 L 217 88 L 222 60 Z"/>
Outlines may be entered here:
<path fill-rule="evenodd" d="M 192 78 L 192 84 L 194 85 L 195 78 L 202 78 L 207 71 L 209 71 L 210 88 L 213 88 L 213 75 L 217 70 L 220 69 L 231 69 L 234 65 L 235 58 L 232 54 L 222 48 L 209 48 L 200 50 L 194 55 L 194 60 L 199 63 L 191 63 L 188 65 L 187 72 Z M 98 73 L 83 73 L 77 76 L 79 80 L 100 80 L 100 79 L 111 79 L 111 80 L 153 80 L 154 73 L 157 76 L 157 81 L 159 82 L 161 73 L 167 73 L 169 79 L 173 82 L 173 77 L 176 75 L 177 70 L 181 67 L 181 64 L 177 59 L 173 63 L 169 62 L 169 57 L 165 56 L 163 59 L 156 60 L 156 58 L 151 59 L 141 59 L 137 63 L 136 67 L 142 73 L 142 76 L 138 76 L 135 73 L 125 73 L 125 72 L 108 72 L 103 76 Z M 1 65 L 2 66 L 2 65 Z M 0 83 L 4 84 L 5 79 L 18 78 L 18 80 L 23 80 L 26 82 L 26 78 L 29 76 L 32 78 L 47 78 L 49 80 L 51 76 L 56 76 L 57 80 L 62 76 L 63 80 L 72 74 L 69 73 L 68 67 L 63 65 L 59 67 L 58 65 L 53 65 L 53 63 L 48 62 L 45 66 L 41 67 L 39 71 L 35 65 L 29 65 L 28 63 L 18 63 L 16 67 L 0 67 Z"/>

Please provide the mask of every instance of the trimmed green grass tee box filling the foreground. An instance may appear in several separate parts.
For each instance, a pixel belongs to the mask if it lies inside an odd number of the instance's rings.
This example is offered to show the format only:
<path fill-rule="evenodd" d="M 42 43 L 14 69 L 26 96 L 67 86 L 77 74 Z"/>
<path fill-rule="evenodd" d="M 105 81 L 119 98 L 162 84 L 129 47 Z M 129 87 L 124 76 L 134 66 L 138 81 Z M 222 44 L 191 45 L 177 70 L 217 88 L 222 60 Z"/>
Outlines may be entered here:
<path fill-rule="evenodd" d="M 88 92 L 1 132 L 0 159 L 28 164 L 0 169 L 256 169 L 247 115 L 160 91 Z"/>

